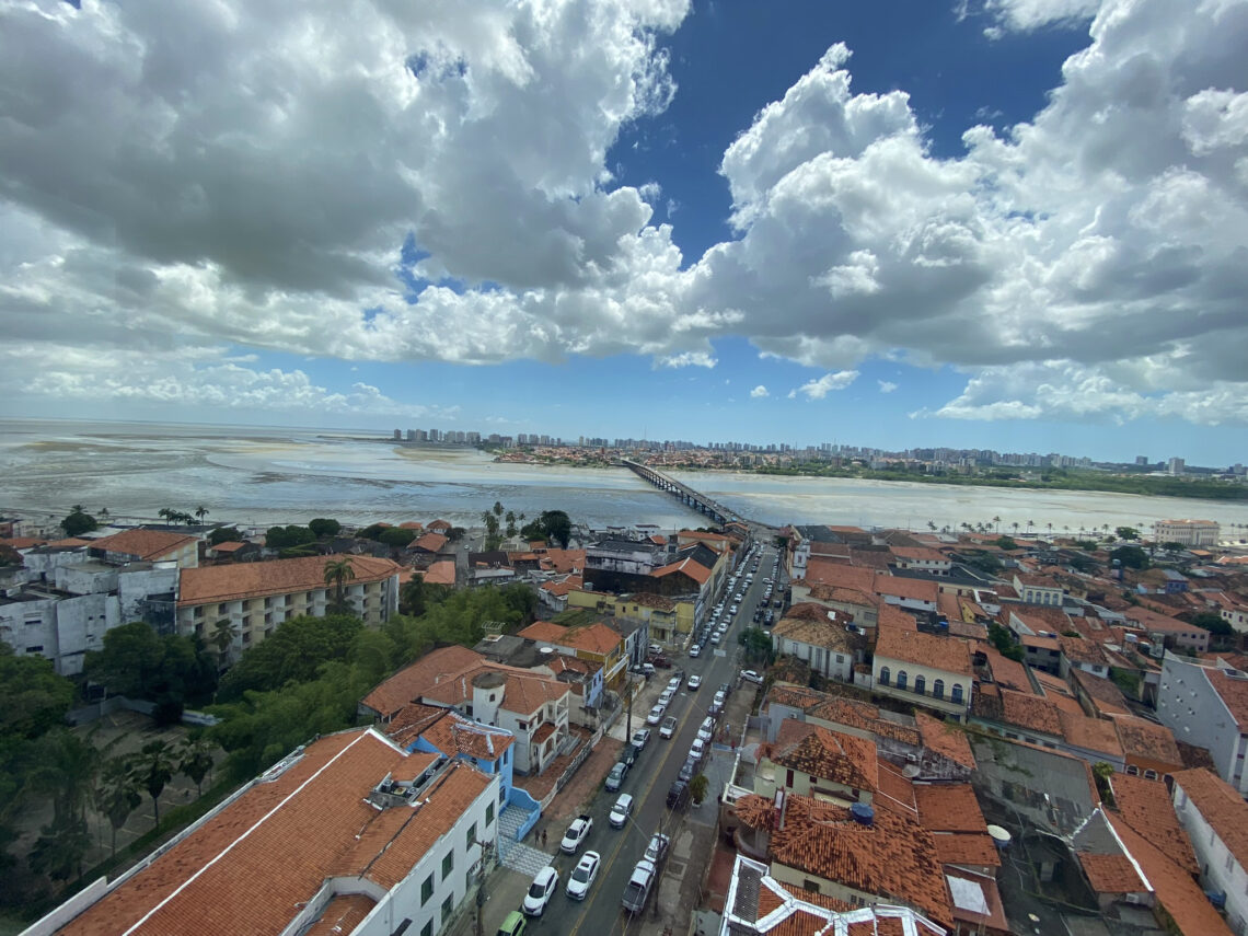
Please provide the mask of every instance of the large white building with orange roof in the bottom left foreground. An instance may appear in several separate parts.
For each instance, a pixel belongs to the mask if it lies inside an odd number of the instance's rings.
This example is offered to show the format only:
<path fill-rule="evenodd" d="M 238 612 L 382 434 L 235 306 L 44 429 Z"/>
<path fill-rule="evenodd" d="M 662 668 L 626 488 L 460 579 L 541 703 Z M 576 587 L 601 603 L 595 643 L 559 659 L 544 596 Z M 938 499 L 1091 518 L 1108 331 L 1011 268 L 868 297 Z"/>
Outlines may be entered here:
<path fill-rule="evenodd" d="M 433 936 L 480 884 L 498 785 L 374 729 L 321 738 L 26 934 Z"/>

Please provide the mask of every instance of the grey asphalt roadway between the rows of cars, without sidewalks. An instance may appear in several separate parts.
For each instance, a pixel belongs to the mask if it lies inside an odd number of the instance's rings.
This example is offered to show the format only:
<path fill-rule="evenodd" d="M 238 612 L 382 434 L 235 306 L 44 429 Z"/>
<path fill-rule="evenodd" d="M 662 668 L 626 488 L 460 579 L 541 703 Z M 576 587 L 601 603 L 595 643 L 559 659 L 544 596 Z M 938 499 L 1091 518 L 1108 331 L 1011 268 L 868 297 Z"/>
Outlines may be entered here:
<path fill-rule="evenodd" d="M 633 765 L 619 791 L 631 794 L 634 797 L 633 815 L 629 822 L 623 829 L 610 827 L 607 815 L 610 812 L 618 794 L 607 792 L 603 789 L 589 807 L 589 815 L 594 819 L 594 830 L 589 834 L 585 844 L 582 845 L 577 855 L 560 854 L 555 859 L 555 867 L 559 871 L 559 891 L 552 897 L 545 914 L 529 921 L 528 929 L 535 936 L 624 936 L 654 930 L 659 895 L 658 882 L 650 890 L 645 910 L 636 917 L 625 912 L 620 906 L 624 886 L 633 874 L 633 866 L 641 857 L 655 831 L 661 829 L 664 832 L 671 834 L 673 842 L 675 842 L 675 826 L 683 816 L 668 810 L 665 802 L 668 787 L 680 773 L 680 766 L 685 763 L 689 748 L 698 734 L 698 726 L 706 716 L 720 683 L 729 683 L 734 691 L 740 688 L 738 684 L 741 670 L 739 663 L 741 648 L 736 639 L 743 628 L 753 624 L 754 609 L 763 599 L 765 588 L 763 580 L 771 575 L 771 562 L 775 554 L 774 547 L 763 547 L 755 580 L 746 590 L 723 643 L 719 646 L 708 645 L 708 649 L 704 649 L 698 659 L 685 656 L 680 661 L 685 676 L 690 673 L 701 674 L 703 685 L 700 689 L 690 691 L 681 683 L 680 691 L 671 700 L 666 711 L 668 715 L 675 715 L 678 719 L 676 733 L 670 740 L 659 738 L 658 726 L 649 726 L 651 728 L 650 741 L 641 751 L 636 764 Z M 744 575 L 738 582 L 734 594 L 743 583 Z M 782 593 L 780 588 L 776 588 L 776 592 Z M 725 607 L 729 605 L 731 602 L 725 600 Z M 659 670 L 650 678 L 651 686 L 656 685 L 661 690 L 675 673 L 676 669 Z M 749 684 L 746 688 L 753 689 Z M 651 689 L 646 693 L 646 698 L 653 694 Z M 645 710 L 634 709 L 634 731 L 646 726 L 648 711 L 648 708 Z M 734 735 L 739 729 L 739 725 L 733 726 Z M 718 790 L 711 789 L 708 795 L 715 796 L 718 792 Z M 563 832 L 560 831 L 559 835 L 562 837 Z M 563 889 L 577 860 L 587 850 L 599 852 L 603 856 L 603 864 L 589 896 L 583 902 L 578 902 L 569 899 Z M 700 872 L 696 856 L 690 861 L 690 871 Z M 660 866 L 660 875 L 661 872 L 663 867 Z"/>

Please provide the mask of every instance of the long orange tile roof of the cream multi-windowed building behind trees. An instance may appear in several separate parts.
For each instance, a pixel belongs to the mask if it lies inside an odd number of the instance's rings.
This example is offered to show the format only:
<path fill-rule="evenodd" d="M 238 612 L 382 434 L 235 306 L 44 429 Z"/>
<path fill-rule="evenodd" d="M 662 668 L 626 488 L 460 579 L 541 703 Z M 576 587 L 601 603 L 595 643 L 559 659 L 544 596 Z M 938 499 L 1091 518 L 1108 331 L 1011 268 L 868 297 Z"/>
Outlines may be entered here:
<path fill-rule="evenodd" d="M 178 573 L 178 608 L 212 602 L 236 602 L 326 588 L 324 567 L 348 559 L 356 573 L 347 584 L 383 582 L 402 572 L 389 559 L 369 555 L 310 555 L 303 559 L 273 559 L 266 563 L 235 563 Z"/>

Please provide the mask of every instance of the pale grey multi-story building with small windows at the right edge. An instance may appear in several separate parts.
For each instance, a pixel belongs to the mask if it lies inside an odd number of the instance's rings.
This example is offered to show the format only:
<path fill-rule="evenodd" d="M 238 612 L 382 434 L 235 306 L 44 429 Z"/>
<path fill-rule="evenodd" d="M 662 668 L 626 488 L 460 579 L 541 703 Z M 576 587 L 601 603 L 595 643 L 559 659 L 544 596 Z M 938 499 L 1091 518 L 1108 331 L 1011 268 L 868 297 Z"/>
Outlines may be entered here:
<path fill-rule="evenodd" d="M 1208 750 L 1218 776 L 1248 795 L 1248 673 L 1167 651 L 1157 715 L 1177 740 Z"/>

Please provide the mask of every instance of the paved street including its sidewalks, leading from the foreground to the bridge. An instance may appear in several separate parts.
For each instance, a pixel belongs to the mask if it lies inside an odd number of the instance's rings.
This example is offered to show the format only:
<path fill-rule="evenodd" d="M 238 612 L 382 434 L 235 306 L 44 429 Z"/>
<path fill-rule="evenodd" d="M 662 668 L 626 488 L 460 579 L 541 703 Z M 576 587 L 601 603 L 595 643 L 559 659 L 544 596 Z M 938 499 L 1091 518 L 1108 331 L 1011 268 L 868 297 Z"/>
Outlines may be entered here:
<path fill-rule="evenodd" d="M 724 735 L 724 743 L 715 745 L 700 766 L 700 770 L 710 780 L 708 801 L 699 807 L 690 806 L 684 814 L 673 814 L 666 809 L 665 797 L 668 787 L 676 779 L 698 733 L 698 726 L 706 716 L 711 699 L 721 683 L 733 685 L 734 694 L 730 698 L 729 714 L 726 718 L 721 716 L 719 725 L 724 728 L 728 721 L 735 720 L 731 725 L 731 736 L 740 736 L 744 715 L 749 711 L 749 703 L 754 698 L 756 686 L 739 681 L 741 664 L 739 663 L 740 646 L 736 638 L 743 628 L 751 624 L 754 609 L 763 597 L 763 579 L 771 574 L 774 555 L 773 548 L 763 549 L 755 582 L 748 590 L 745 600 L 741 602 L 740 610 L 719 648 L 708 648 L 708 651 L 699 659 L 688 656 L 673 659 L 678 669 L 683 668 L 684 675 L 688 676 L 689 673 L 701 674 L 703 685 L 700 689 L 690 691 L 683 683 L 680 691 L 668 708 L 668 714 L 675 715 L 678 719 L 676 734 L 673 739 L 663 740 L 659 738 L 658 728 L 651 726 L 650 741 L 629 771 L 620 790 L 620 792 L 628 792 L 635 799 L 633 816 L 628 825 L 617 830 L 608 824 L 607 816 L 618 794 L 607 792 L 602 787 L 600 778 L 609 770 L 610 764 L 599 760 L 595 765 L 595 759 L 590 759 L 582 768 L 583 771 L 597 769 L 600 773 L 597 774 L 598 792 L 587 807 L 588 814 L 594 819 L 594 829 L 578 855 L 559 854 L 563 820 L 570 817 L 575 804 L 565 802 L 563 809 L 553 810 L 555 814 L 562 814 L 558 816 L 559 826 L 553 825 L 554 815 L 552 815 L 552 824 L 548 824 L 545 819 L 538 824 L 537 830 L 543 827 L 548 830 L 544 851 L 552 854 L 552 864 L 559 871 L 559 892 L 550 901 L 543 917 L 529 921 L 529 931 L 535 936 L 574 936 L 575 934 L 620 936 L 623 934 L 661 932 L 669 926 L 675 931 L 684 932 L 689 914 L 694 910 L 693 904 L 698 894 L 696 884 L 701 881 L 710 859 L 710 846 L 714 841 L 716 825 L 716 797 L 734 759 L 728 735 Z M 653 699 L 666 686 L 668 679 L 678 669 L 659 670 L 650 678 L 649 685 L 633 709 L 631 728 L 634 730 L 645 724 L 645 715 Z M 625 729 L 625 719 L 622 718 L 613 734 L 623 740 Z M 557 804 L 552 805 L 557 806 Z M 620 897 L 634 864 L 645 851 L 650 836 L 659 830 L 671 836 L 671 850 L 660 869 L 661 879 L 658 890 L 651 890 L 644 912 L 633 917 L 620 907 Z M 529 845 L 537 845 L 533 839 L 534 836 L 530 835 Z M 538 847 L 540 846 L 538 845 Z M 577 859 L 587 850 L 599 852 L 603 856 L 603 865 L 589 896 L 584 902 L 577 902 L 564 895 L 563 887 Z M 490 879 L 488 886 L 490 900 L 483 915 L 487 936 L 497 931 L 498 922 L 509 910 L 519 906 L 528 884 L 528 880 L 510 871 L 499 871 Z M 689 899 L 690 894 L 694 895 L 694 899 Z M 462 929 L 462 932 L 470 932 L 470 929 Z"/>

